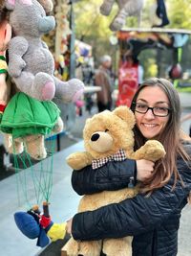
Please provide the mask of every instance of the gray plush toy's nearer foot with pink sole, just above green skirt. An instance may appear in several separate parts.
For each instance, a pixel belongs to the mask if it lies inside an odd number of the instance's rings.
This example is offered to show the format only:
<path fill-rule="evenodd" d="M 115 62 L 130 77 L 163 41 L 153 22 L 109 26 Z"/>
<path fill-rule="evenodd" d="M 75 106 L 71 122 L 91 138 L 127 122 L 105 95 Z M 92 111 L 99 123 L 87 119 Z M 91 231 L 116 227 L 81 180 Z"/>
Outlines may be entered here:
<path fill-rule="evenodd" d="M 55 85 L 52 77 L 44 72 L 35 75 L 32 97 L 39 101 L 50 101 L 55 94 Z"/>

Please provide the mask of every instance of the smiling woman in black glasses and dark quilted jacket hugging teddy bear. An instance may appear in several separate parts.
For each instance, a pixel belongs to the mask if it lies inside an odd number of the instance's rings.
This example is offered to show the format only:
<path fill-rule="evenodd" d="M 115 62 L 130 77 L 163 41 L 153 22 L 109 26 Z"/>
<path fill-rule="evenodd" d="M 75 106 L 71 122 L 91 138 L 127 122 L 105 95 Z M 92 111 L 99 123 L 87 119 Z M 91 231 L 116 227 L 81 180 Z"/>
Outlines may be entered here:
<path fill-rule="evenodd" d="M 138 87 L 131 109 L 137 120 L 135 150 L 148 139 L 158 139 L 165 158 L 154 168 L 149 161 L 137 161 L 137 170 L 130 164 L 134 161 L 126 160 L 118 176 L 112 162 L 97 171 L 91 166 L 74 171 L 73 186 L 79 195 L 127 186 L 132 169 L 141 181 L 141 192 L 136 198 L 78 213 L 67 228 L 81 241 L 134 236 L 133 256 L 175 256 L 180 212 L 191 190 L 191 144 L 180 131 L 179 95 L 169 81 L 150 79 Z M 94 182 L 88 182 L 90 176 Z"/>

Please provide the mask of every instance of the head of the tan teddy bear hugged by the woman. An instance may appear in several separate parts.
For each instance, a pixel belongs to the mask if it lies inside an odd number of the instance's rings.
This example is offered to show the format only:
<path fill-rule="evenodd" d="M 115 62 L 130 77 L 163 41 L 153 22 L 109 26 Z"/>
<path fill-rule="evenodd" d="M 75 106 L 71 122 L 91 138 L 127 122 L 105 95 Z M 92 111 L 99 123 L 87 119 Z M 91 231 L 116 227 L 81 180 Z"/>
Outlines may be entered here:
<path fill-rule="evenodd" d="M 87 119 L 83 129 L 86 151 L 95 159 L 110 156 L 120 149 L 132 151 L 135 123 L 134 113 L 127 106 L 94 115 Z"/>

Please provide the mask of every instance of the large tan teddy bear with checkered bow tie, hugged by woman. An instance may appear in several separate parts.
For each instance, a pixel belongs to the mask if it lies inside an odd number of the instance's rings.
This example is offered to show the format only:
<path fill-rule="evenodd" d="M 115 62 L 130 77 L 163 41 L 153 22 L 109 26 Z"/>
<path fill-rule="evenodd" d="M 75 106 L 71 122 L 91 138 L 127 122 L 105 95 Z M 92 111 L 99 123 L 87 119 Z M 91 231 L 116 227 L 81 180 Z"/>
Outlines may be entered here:
<path fill-rule="evenodd" d="M 157 140 L 148 140 L 138 151 L 134 151 L 134 113 L 127 106 L 118 106 L 114 111 L 105 110 L 87 119 L 84 130 L 84 152 L 75 152 L 67 157 L 67 163 L 80 170 L 87 165 L 99 168 L 108 161 L 122 161 L 126 158 L 159 160 L 165 155 L 163 146 Z M 138 188 L 118 191 L 103 191 L 81 198 L 78 211 L 91 211 L 109 203 L 135 197 Z M 132 238 L 108 239 L 92 242 L 74 241 L 72 238 L 63 248 L 68 256 L 99 256 L 101 249 L 107 256 L 130 256 Z M 101 248 L 101 246 L 103 246 Z"/>

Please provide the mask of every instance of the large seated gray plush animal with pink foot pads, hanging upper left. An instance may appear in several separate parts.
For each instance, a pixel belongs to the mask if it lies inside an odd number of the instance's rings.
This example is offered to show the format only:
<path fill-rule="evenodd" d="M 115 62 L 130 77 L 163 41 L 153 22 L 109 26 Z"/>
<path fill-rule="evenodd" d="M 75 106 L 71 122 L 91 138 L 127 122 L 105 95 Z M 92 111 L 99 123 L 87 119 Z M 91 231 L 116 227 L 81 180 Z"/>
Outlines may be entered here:
<path fill-rule="evenodd" d="M 67 104 L 84 91 L 82 81 L 60 81 L 53 76 L 54 60 L 41 36 L 55 26 L 53 16 L 36 0 L 6 0 L 13 37 L 9 45 L 9 74 L 17 88 L 39 101 L 53 97 Z"/>

